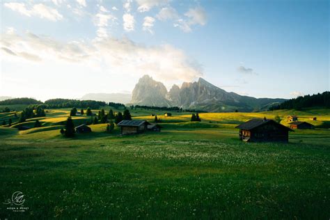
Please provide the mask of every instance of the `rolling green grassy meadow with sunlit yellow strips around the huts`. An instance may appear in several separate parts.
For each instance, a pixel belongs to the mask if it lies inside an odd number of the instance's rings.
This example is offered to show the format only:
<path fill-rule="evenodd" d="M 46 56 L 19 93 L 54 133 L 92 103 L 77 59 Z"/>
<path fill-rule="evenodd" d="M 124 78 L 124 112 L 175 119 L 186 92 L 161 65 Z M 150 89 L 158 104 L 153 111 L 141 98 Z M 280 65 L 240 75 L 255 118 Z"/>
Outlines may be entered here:
<path fill-rule="evenodd" d="M 29 207 L 13 212 L 0 203 L 0 219 L 330 217 L 327 109 L 201 113 L 201 123 L 173 112 L 158 117 L 160 133 L 120 136 L 118 127 L 108 134 L 106 124 L 99 124 L 91 125 L 91 134 L 65 139 L 59 129 L 69 110 L 49 110 L 38 118 L 39 128 L 0 126 L 0 199 L 22 191 Z M 131 113 L 134 119 L 154 118 L 152 111 Z M 290 132 L 288 144 L 242 143 L 234 128 L 250 118 L 290 114 L 317 128 Z M 14 116 L 1 113 L 0 122 L 5 117 Z M 79 125 L 90 117 L 73 119 Z"/>

